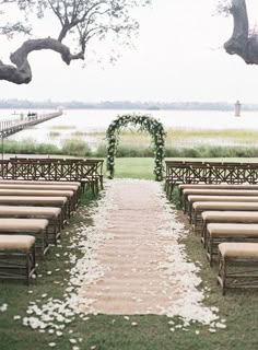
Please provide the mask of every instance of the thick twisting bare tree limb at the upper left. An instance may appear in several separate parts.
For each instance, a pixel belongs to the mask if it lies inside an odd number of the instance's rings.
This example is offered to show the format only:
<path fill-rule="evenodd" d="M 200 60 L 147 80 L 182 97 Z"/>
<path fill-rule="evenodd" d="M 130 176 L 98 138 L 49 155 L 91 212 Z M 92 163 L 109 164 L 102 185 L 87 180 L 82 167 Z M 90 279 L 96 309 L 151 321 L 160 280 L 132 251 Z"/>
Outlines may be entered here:
<path fill-rule="evenodd" d="M 61 55 L 62 60 L 70 65 L 71 60 L 84 59 L 84 52 L 72 55 L 69 47 L 50 37 L 43 39 L 26 40 L 10 56 L 11 62 L 15 66 L 4 65 L 0 61 L 0 80 L 7 80 L 15 84 L 27 84 L 32 80 L 32 70 L 27 60 L 28 54 L 49 49 Z"/>

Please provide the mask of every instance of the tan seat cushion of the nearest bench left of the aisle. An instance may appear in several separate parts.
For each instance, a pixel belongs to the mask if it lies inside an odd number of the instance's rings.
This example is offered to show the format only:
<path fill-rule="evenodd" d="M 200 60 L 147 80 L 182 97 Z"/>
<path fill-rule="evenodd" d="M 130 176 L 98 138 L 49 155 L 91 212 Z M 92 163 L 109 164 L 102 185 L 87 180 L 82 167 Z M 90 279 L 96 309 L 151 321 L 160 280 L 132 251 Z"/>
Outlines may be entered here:
<path fill-rule="evenodd" d="M 0 250 L 28 252 L 34 244 L 34 236 L 0 234 Z"/>

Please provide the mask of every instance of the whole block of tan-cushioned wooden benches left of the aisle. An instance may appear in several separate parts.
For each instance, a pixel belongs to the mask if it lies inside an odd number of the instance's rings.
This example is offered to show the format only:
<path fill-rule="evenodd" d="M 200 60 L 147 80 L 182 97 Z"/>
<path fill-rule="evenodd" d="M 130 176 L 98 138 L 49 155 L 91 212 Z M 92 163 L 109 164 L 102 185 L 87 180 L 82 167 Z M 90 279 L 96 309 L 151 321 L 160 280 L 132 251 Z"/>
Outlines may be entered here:
<path fill-rule="evenodd" d="M 57 243 L 80 190 L 74 182 L 0 180 L 0 278 L 30 282 L 36 257 Z"/>

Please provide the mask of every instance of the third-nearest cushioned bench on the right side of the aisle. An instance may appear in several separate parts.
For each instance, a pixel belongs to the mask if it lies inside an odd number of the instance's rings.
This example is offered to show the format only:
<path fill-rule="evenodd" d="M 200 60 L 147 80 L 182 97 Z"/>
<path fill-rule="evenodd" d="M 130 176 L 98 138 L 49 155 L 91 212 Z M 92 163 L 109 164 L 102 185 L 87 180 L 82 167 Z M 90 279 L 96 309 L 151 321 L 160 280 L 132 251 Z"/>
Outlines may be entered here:
<path fill-rule="evenodd" d="M 201 213 L 201 242 L 204 247 L 209 223 L 258 223 L 258 211 L 203 211 Z"/>

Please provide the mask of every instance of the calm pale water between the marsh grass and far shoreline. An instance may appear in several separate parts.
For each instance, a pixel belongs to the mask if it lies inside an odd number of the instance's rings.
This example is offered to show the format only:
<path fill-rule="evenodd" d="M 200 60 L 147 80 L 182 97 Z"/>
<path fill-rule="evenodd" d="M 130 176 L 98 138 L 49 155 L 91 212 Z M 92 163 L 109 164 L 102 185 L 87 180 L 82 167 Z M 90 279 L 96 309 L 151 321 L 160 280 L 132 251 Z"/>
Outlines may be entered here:
<path fill-rule="evenodd" d="M 26 114 L 28 110 L 16 110 Z M 38 114 L 48 110 L 37 110 Z M 160 119 L 164 127 L 188 129 L 257 129 L 258 112 L 243 112 L 242 117 L 235 117 L 234 112 L 207 112 L 207 110 L 113 110 L 113 109 L 70 109 L 64 110 L 61 117 L 43 122 L 33 129 L 23 130 L 10 137 L 15 140 L 33 139 L 39 142 L 61 144 L 66 138 L 71 138 L 74 132 L 90 132 L 106 130 L 108 125 L 118 115 L 132 113 L 149 114 Z M 0 119 L 19 118 L 13 110 L 0 109 Z M 63 127 L 62 129 L 58 127 Z M 51 137 L 50 132 L 60 136 Z M 87 137 L 94 143 L 94 138 Z"/>

